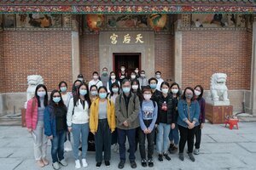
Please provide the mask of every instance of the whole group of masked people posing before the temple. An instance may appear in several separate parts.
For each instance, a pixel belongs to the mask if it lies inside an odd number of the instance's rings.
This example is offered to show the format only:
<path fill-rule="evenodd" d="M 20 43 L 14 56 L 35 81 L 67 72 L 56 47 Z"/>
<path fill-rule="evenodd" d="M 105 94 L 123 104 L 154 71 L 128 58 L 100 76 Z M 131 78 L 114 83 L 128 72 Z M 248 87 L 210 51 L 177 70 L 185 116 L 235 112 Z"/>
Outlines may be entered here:
<path fill-rule="evenodd" d="M 189 159 L 195 161 L 193 153 L 200 153 L 201 129 L 205 123 L 203 88 L 200 85 L 188 87 L 182 94 L 176 82 L 170 85 L 160 76 L 160 71 L 156 71 L 155 77 L 147 79 L 145 71 L 136 69 L 128 77 L 124 65 L 119 75 L 113 71 L 108 75 L 108 69 L 103 68 L 102 76 L 93 72 L 89 83 L 79 75 L 73 82 L 72 93 L 67 92 L 67 82 L 60 82 L 49 98 L 47 88 L 39 84 L 26 107 L 26 127 L 32 133 L 38 166 L 49 164 L 46 159 L 48 139 L 53 168 L 67 166 L 64 143 L 70 141 L 70 133 L 73 134 L 76 168 L 88 166 L 89 133 L 95 139 L 96 167 L 101 167 L 103 160 L 110 166 L 112 144 L 119 151 L 118 167 L 125 167 L 126 139 L 132 168 L 137 167 L 137 145 L 143 167 L 154 167 L 154 144 L 159 161 L 164 158 L 170 161 L 169 153 L 177 150 L 178 158 L 183 161 L 184 146 L 188 143 Z"/>

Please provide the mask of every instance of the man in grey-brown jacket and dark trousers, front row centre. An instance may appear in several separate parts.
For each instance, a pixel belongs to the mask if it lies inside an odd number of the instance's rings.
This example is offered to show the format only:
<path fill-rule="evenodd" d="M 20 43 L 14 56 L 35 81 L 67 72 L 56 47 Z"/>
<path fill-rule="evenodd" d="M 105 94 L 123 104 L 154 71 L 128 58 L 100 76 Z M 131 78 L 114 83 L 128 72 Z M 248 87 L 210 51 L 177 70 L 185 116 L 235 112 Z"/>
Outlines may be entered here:
<path fill-rule="evenodd" d="M 125 141 L 129 141 L 131 168 L 136 168 L 135 135 L 139 127 L 138 113 L 140 102 L 137 95 L 131 93 L 131 82 L 125 79 L 122 82 L 122 93 L 115 99 L 115 116 L 119 141 L 119 169 L 125 167 Z"/>

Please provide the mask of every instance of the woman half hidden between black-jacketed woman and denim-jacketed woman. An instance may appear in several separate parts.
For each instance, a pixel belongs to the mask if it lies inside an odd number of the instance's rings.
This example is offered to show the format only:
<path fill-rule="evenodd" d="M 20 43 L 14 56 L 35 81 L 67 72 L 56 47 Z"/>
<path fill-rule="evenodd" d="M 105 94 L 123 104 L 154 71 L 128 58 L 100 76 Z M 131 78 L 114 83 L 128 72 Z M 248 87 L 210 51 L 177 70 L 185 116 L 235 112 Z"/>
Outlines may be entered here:
<path fill-rule="evenodd" d="M 179 91 L 180 91 L 179 85 L 177 84 L 177 82 L 173 82 L 171 85 L 171 94 L 172 94 L 172 98 L 175 101 L 176 111 L 177 111 L 178 99 L 180 96 Z M 177 122 L 177 116 L 178 116 L 178 113 L 176 114 L 176 117 L 175 117 L 176 122 Z M 177 144 L 179 142 L 179 133 L 178 133 L 177 123 L 175 124 L 175 128 L 173 129 L 171 128 L 169 139 L 171 143 L 169 147 L 169 152 L 171 154 L 174 154 L 177 152 Z"/>

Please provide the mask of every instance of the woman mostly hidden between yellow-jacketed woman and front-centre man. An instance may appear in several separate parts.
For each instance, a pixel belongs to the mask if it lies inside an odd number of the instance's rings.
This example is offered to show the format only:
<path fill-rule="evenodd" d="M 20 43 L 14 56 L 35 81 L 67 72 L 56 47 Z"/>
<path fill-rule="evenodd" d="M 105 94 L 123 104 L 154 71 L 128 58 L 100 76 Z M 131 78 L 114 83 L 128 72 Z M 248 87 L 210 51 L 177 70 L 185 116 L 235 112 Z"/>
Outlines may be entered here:
<path fill-rule="evenodd" d="M 113 82 L 113 84 L 110 87 L 110 94 L 108 95 L 108 99 L 110 99 L 113 102 L 113 105 L 115 104 L 115 99 L 119 95 L 119 89 L 120 89 L 119 83 Z M 116 153 L 119 153 L 119 144 L 118 144 L 118 141 L 117 141 L 117 130 L 116 130 L 116 128 L 112 133 L 111 144 L 113 144 L 113 151 L 116 152 Z"/>

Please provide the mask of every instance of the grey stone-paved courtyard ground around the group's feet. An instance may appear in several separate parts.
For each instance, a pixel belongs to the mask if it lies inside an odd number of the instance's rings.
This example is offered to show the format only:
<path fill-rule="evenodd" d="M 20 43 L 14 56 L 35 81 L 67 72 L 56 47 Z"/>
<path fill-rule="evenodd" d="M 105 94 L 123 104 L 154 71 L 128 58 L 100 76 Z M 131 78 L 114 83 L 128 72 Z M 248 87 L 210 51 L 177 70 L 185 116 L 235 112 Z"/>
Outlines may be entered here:
<path fill-rule="evenodd" d="M 154 167 L 151 169 L 256 169 L 256 123 L 239 122 L 230 130 L 224 124 L 206 124 L 202 134 L 201 154 L 195 156 L 195 162 L 189 161 L 186 156 L 184 161 L 179 161 L 177 154 L 171 155 L 172 161 L 157 160 L 154 153 Z M 39 168 L 33 159 L 33 143 L 31 134 L 26 128 L 20 126 L 0 126 L 0 169 L 3 170 L 37 170 L 53 169 L 51 165 Z M 50 142 L 48 148 L 48 159 L 50 159 Z M 61 169 L 75 169 L 73 153 L 66 152 L 68 166 Z M 96 169 L 95 154 L 89 152 L 87 156 L 89 167 L 81 169 Z M 140 154 L 137 151 L 137 169 L 146 169 L 140 164 Z M 130 163 L 126 161 L 124 169 L 131 169 Z M 102 169 L 118 169 L 119 155 L 112 152 L 111 166 Z M 147 167 L 148 169 L 148 167 Z M 149 168 L 150 169 L 150 168 Z"/>

